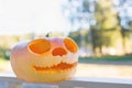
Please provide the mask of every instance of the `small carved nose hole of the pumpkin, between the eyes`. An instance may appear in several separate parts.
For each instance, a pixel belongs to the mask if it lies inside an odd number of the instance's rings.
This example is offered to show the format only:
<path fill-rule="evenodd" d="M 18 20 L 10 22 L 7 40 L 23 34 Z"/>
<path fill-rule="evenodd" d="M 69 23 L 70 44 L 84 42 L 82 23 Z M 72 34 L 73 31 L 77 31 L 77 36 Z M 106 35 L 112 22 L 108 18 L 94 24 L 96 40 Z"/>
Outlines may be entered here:
<path fill-rule="evenodd" d="M 63 56 L 63 55 L 66 55 L 67 52 L 63 48 L 63 47 L 57 47 L 55 50 L 53 50 L 52 52 L 53 56 Z"/>

